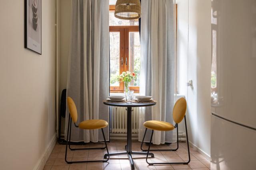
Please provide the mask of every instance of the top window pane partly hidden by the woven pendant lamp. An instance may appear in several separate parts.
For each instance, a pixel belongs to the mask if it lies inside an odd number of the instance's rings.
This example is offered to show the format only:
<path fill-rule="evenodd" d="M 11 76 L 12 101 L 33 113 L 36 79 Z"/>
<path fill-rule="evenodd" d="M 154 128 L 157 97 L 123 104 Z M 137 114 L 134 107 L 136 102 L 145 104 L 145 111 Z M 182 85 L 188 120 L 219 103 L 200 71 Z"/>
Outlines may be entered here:
<path fill-rule="evenodd" d="M 109 25 L 139 25 L 139 20 L 120 20 L 114 16 L 114 11 L 109 12 Z"/>

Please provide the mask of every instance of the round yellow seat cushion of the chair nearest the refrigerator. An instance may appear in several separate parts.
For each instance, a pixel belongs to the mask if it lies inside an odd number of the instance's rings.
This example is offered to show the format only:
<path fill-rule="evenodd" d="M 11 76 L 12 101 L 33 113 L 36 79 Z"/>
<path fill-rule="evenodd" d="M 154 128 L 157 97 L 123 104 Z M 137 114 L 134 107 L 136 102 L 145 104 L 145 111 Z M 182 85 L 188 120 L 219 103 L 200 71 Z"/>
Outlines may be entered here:
<path fill-rule="evenodd" d="M 156 131 L 171 131 L 174 129 L 174 126 L 171 123 L 157 120 L 146 121 L 144 126 L 148 129 L 153 129 Z"/>

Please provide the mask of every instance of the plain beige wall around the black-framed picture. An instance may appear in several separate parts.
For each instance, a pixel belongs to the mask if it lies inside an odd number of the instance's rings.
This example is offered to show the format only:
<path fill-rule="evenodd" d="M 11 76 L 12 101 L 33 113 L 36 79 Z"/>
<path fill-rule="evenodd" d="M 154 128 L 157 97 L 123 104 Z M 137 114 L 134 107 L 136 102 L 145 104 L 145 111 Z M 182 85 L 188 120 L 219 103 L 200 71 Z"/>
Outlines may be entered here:
<path fill-rule="evenodd" d="M 42 0 L 42 55 L 24 49 L 24 0 L 0 1 L 0 169 L 32 170 L 55 137 L 55 1 Z"/>

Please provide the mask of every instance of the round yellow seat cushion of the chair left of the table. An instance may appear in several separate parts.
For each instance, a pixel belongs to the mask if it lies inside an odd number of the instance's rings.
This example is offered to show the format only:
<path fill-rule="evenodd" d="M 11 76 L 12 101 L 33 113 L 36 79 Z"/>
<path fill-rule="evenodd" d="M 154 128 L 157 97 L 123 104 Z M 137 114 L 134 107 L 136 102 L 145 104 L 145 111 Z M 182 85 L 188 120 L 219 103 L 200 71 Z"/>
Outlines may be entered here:
<path fill-rule="evenodd" d="M 82 121 L 78 127 L 81 129 L 101 129 L 108 126 L 108 122 L 101 119 Z"/>

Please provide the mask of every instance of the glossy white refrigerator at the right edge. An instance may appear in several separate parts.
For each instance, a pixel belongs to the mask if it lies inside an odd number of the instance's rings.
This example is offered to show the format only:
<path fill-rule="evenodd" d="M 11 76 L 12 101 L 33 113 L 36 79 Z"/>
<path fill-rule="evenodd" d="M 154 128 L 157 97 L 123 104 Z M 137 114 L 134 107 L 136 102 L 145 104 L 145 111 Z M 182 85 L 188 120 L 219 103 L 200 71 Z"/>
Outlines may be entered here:
<path fill-rule="evenodd" d="M 256 0 L 211 14 L 211 170 L 256 170 Z"/>

